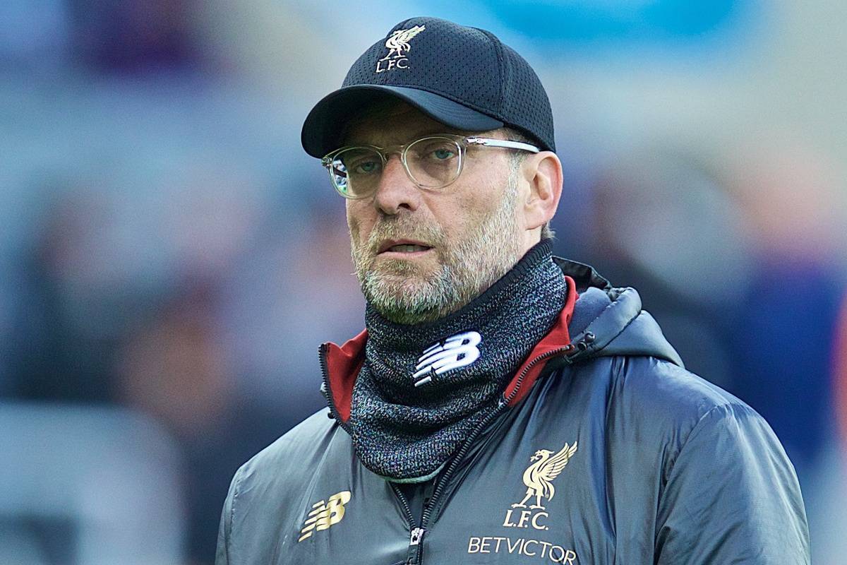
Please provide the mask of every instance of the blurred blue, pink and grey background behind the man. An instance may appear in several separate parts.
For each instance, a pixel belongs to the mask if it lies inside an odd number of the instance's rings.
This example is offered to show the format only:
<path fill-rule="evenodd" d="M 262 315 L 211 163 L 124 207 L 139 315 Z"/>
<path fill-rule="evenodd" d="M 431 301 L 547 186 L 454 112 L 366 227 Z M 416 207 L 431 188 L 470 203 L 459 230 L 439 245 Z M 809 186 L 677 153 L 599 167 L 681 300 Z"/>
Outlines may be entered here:
<path fill-rule="evenodd" d="M 302 119 L 390 27 L 494 31 L 551 97 L 556 252 L 763 414 L 847 553 L 847 4 L 0 3 L 0 564 L 213 562 L 235 469 L 363 327 Z"/>

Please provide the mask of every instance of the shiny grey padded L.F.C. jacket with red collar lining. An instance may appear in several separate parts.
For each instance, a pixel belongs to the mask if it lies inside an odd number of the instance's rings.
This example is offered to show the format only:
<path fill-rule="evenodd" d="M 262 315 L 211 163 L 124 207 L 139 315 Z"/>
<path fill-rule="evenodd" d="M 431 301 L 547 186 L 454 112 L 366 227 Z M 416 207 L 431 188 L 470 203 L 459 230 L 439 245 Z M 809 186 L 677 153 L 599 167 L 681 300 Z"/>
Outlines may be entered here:
<path fill-rule="evenodd" d="M 367 335 L 324 345 L 329 409 L 235 474 L 217 565 L 809 563 L 765 420 L 687 372 L 634 289 L 556 262 L 579 299 L 430 484 L 357 461 L 344 424 Z"/>

